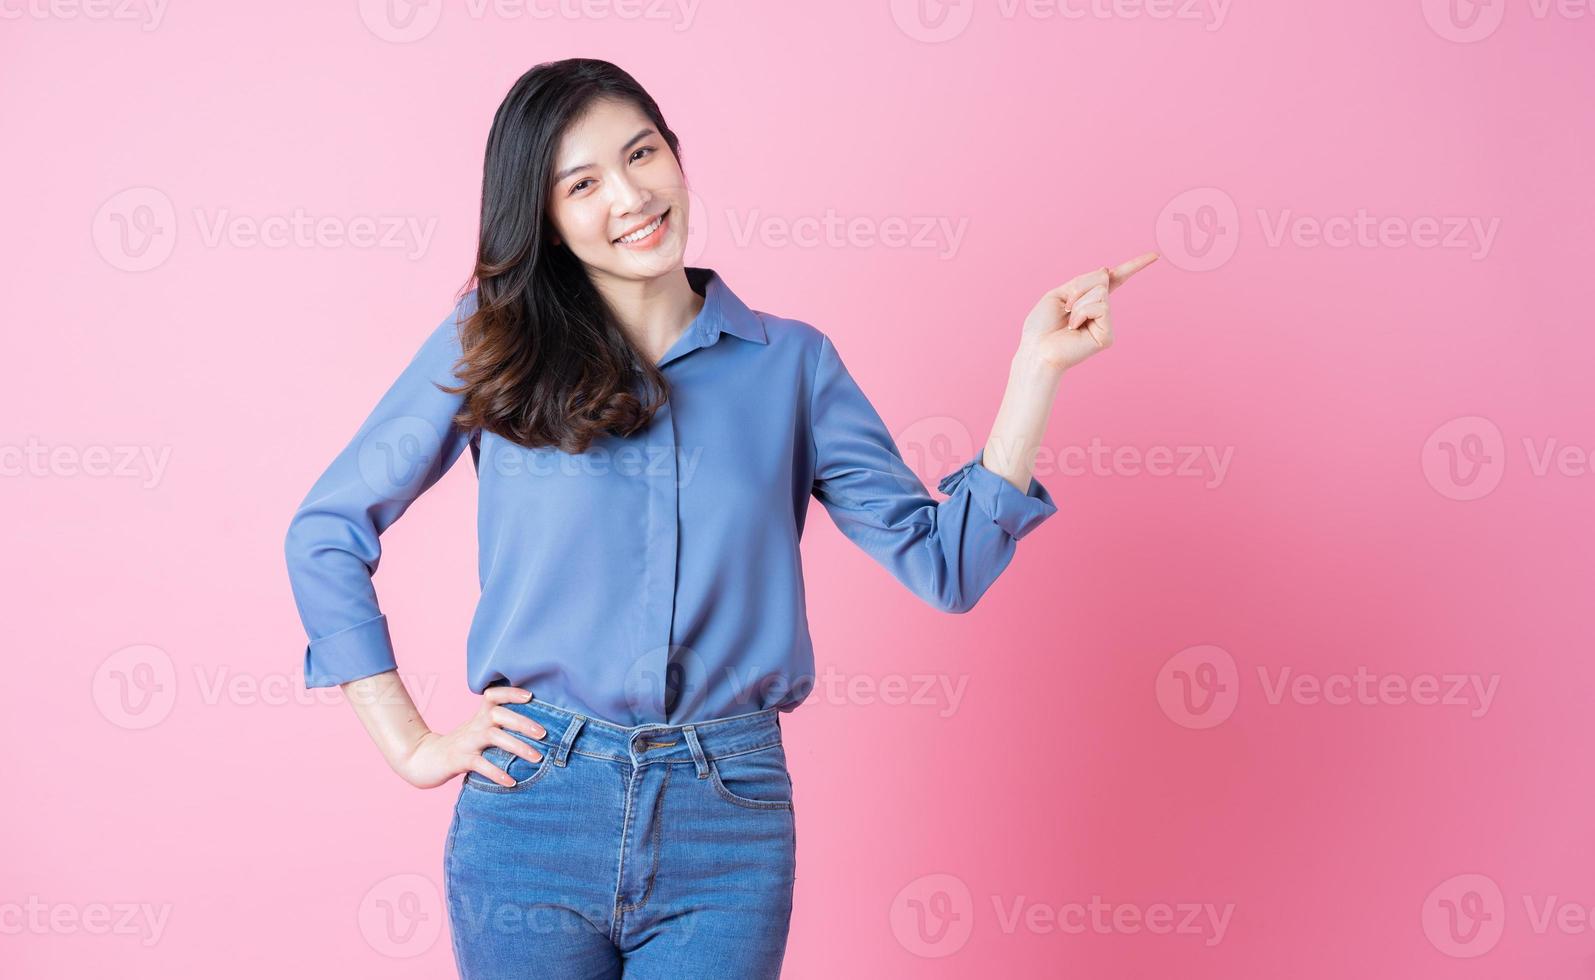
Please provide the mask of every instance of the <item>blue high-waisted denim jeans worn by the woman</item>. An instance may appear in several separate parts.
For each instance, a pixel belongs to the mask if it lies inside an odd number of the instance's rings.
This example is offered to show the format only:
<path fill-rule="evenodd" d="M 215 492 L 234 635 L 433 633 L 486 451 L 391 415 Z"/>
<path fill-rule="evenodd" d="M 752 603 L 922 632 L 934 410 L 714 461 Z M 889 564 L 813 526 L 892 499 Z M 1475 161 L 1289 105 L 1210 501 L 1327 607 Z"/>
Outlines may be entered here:
<path fill-rule="evenodd" d="M 796 871 L 780 712 L 694 725 L 506 704 L 547 737 L 466 773 L 443 856 L 463 980 L 780 977 Z M 509 731 L 509 729 L 506 729 Z"/>

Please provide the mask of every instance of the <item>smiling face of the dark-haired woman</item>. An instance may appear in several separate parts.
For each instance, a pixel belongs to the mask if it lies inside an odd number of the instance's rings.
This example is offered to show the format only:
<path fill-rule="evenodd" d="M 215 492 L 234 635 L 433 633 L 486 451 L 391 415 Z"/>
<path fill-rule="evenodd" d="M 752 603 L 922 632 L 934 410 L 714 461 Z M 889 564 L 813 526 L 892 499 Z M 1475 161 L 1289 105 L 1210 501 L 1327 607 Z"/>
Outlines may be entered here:
<path fill-rule="evenodd" d="M 549 219 L 590 273 L 652 279 L 686 254 L 686 176 L 643 112 L 601 99 L 560 140 Z"/>

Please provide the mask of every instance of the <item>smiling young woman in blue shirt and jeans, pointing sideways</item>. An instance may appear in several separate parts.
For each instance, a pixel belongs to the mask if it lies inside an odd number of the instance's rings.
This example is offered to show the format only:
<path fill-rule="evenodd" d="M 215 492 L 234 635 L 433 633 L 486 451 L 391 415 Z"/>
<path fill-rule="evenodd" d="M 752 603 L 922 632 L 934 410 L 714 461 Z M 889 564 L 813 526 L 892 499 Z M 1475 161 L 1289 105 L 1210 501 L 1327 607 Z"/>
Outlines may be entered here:
<path fill-rule="evenodd" d="M 526 72 L 488 134 L 475 289 L 289 525 L 305 685 L 341 685 L 413 785 L 464 773 L 445 892 L 467 978 L 780 974 L 810 495 L 927 603 L 971 608 L 1056 511 L 1030 460 L 1059 378 L 1112 342 L 1109 290 L 1156 257 L 1042 297 L 938 503 L 833 340 L 684 267 L 686 228 L 676 134 L 630 75 Z M 380 535 L 466 447 L 482 704 L 432 731 L 372 576 Z"/>

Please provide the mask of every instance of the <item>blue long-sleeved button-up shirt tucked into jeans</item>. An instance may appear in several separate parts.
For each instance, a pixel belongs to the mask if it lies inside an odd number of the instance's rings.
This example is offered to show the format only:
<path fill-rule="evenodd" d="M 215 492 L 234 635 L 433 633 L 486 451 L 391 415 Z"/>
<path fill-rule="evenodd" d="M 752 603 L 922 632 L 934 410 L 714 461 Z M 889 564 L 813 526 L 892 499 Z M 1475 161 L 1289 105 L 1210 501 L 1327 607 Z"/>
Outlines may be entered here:
<path fill-rule="evenodd" d="M 482 597 L 471 690 L 526 688 L 616 725 L 683 725 L 812 690 L 802 536 L 809 496 L 938 610 L 971 608 L 1014 543 L 1057 508 L 983 464 L 936 501 L 818 329 L 750 310 L 687 268 L 703 308 L 660 359 L 671 394 L 651 425 L 585 453 L 525 449 L 453 423 L 451 366 L 472 290 L 378 401 L 289 524 L 305 686 L 394 670 L 372 576 L 380 535 L 471 447 Z"/>

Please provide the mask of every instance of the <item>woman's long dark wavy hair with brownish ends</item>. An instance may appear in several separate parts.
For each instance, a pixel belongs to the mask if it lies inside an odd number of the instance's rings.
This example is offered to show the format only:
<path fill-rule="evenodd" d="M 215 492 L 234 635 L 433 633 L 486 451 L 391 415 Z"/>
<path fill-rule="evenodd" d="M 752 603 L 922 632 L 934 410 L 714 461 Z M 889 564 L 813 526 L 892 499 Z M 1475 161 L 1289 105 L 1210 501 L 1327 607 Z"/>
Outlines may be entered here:
<path fill-rule="evenodd" d="M 538 449 L 585 452 L 601 433 L 649 423 L 670 385 L 627 338 L 581 260 L 552 244 L 549 193 L 560 136 L 597 99 L 638 107 L 681 158 L 654 99 L 608 61 L 568 57 L 522 75 L 493 117 L 482 161 L 477 310 L 461 326 L 448 388 L 455 421 Z M 643 401 L 641 396 L 652 397 Z"/>

